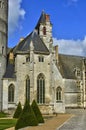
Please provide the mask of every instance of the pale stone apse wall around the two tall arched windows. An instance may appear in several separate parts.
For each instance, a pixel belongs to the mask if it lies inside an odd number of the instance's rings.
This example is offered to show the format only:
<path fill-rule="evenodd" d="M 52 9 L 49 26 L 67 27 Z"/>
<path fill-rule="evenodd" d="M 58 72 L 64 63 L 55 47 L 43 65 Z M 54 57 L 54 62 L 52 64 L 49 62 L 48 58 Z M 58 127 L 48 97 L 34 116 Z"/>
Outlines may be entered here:
<path fill-rule="evenodd" d="M 50 69 L 50 56 L 43 55 L 44 62 L 39 62 L 38 57 L 40 54 L 34 54 L 34 61 L 30 61 L 26 63 L 27 55 L 17 55 L 16 57 L 16 82 L 17 82 L 17 101 L 21 101 L 22 104 L 25 102 L 25 80 L 26 76 L 30 77 L 31 84 L 31 101 L 32 99 L 37 99 L 37 77 L 40 73 L 45 76 L 45 97 L 46 103 L 50 102 L 51 94 L 50 94 L 50 79 L 51 79 L 51 69 Z M 33 67 L 31 67 L 33 66 Z M 33 73 L 33 77 L 32 76 Z M 33 84 L 33 85 L 32 85 Z"/>

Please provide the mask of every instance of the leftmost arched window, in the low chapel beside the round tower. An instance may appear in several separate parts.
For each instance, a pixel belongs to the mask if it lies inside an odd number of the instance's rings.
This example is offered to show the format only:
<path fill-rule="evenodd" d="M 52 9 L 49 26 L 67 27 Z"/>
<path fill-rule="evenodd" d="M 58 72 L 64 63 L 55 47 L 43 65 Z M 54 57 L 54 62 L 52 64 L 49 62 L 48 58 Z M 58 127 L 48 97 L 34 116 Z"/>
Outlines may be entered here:
<path fill-rule="evenodd" d="M 8 102 L 14 102 L 14 85 L 8 87 Z"/>

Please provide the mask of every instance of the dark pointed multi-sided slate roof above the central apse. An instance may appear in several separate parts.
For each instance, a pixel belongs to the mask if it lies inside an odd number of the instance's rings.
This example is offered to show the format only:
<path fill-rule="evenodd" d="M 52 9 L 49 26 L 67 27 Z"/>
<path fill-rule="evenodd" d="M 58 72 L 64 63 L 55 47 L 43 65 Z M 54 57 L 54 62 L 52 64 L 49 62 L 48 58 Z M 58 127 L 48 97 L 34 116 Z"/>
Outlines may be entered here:
<path fill-rule="evenodd" d="M 35 53 L 45 53 L 49 54 L 49 50 L 41 40 L 37 31 L 34 30 L 31 34 L 29 34 L 24 40 L 22 40 L 13 50 L 14 54 L 21 52 L 29 52 L 30 51 L 30 43 L 33 42 L 34 52 Z"/>

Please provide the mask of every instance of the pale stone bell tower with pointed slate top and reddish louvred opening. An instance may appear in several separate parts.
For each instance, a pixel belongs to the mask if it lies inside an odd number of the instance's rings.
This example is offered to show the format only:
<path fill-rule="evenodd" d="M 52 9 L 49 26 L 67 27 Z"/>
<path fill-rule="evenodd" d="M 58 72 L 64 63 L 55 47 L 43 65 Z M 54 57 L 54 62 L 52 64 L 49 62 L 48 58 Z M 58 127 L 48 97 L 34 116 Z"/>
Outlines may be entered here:
<path fill-rule="evenodd" d="M 52 23 L 50 21 L 50 16 L 42 11 L 42 14 L 38 20 L 36 30 L 38 35 L 43 40 L 48 49 L 53 43 L 52 40 Z"/>

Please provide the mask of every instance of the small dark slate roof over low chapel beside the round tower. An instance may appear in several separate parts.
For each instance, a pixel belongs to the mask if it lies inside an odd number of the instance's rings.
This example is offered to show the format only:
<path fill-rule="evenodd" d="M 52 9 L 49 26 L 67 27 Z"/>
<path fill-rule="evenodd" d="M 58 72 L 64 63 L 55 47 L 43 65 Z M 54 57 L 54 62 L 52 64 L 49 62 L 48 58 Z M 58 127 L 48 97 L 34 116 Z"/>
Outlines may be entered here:
<path fill-rule="evenodd" d="M 14 69 L 14 64 L 9 61 L 3 78 L 16 78 Z"/>

